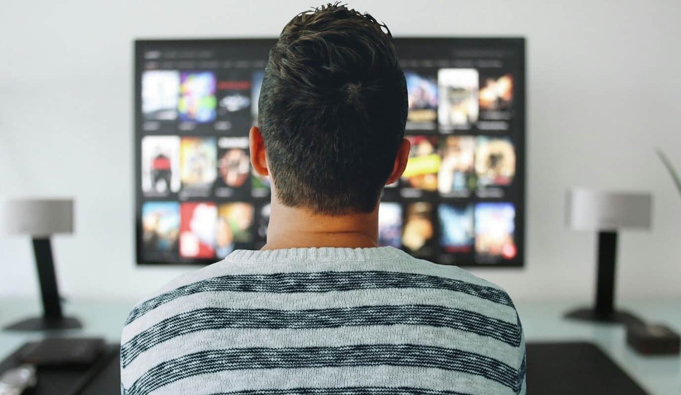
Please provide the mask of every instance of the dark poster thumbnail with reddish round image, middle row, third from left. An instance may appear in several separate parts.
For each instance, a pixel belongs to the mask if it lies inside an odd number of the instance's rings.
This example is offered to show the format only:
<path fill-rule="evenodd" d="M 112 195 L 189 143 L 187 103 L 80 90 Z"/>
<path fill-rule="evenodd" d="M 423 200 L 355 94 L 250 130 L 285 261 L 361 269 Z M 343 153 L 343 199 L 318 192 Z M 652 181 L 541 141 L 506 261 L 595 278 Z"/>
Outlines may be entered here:
<path fill-rule="evenodd" d="M 251 184 L 251 159 L 248 137 L 220 137 L 217 140 L 218 175 L 215 196 L 233 197 L 249 195 Z"/>

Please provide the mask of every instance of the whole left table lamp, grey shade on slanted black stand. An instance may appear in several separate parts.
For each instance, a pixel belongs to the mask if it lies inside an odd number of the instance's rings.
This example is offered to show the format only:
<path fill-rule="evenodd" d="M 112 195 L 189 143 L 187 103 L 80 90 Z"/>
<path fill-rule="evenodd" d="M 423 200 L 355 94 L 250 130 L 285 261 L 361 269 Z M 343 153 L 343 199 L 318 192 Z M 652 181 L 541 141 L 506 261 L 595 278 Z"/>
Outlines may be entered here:
<path fill-rule="evenodd" d="M 43 315 L 22 320 L 5 330 L 80 328 L 80 322 L 64 317 L 54 273 L 50 236 L 74 232 L 73 199 L 17 199 L 0 203 L 0 233 L 30 235 L 40 282 Z"/>

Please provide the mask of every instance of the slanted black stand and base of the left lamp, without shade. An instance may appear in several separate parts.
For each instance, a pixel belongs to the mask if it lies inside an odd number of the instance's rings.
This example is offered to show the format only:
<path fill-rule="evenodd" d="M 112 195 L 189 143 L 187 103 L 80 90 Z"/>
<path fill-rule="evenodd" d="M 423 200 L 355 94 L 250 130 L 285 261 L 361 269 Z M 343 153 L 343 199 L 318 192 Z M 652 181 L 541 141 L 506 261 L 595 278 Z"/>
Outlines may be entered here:
<path fill-rule="evenodd" d="M 80 322 L 61 313 L 61 300 L 54 273 L 52 245 L 50 238 L 34 238 L 33 253 L 40 281 L 40 294 L 43 303 L 42 317 L 32 317 L 5 327 L 5 330 L 55 330 L 81 328 Z"/>

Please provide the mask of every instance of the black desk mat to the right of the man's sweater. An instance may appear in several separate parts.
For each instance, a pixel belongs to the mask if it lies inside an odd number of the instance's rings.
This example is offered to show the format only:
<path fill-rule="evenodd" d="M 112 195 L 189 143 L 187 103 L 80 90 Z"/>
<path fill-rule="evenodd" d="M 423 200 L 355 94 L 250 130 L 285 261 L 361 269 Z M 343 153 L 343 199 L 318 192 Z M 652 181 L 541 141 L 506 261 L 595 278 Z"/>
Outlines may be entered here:
<path fill-rule="evenodd" d="M 591 343 L 528 343 L 527 393 L 648 395 Z"/>

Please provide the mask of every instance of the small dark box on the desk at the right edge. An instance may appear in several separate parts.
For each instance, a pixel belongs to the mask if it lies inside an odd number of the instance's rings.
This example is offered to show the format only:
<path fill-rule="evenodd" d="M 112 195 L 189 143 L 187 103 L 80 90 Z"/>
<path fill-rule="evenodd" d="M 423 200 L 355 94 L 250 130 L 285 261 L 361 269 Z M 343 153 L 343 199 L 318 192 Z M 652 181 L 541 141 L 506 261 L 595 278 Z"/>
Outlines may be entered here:
<path fill-rule="evenodd" d="M 627 326 L 627 344 L 640 354 L 678 355 L 681 339 L 678 333 L 660 324 Z"/>

